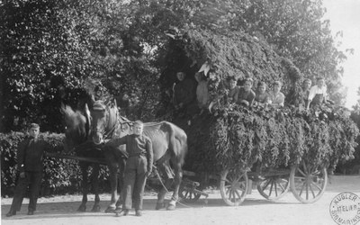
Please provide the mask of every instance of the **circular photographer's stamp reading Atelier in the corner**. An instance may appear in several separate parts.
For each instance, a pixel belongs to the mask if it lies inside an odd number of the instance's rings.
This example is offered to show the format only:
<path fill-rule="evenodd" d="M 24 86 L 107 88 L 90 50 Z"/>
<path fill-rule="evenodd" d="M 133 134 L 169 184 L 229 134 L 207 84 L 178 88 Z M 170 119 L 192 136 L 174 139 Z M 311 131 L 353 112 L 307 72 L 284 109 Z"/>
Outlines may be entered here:
<path fill-rule="evenodd" d="M 329 208 L 332 220 L 338 224 L 355 225 L 360 221 L 360 197 L 356 193 L 339 193 Z"/>

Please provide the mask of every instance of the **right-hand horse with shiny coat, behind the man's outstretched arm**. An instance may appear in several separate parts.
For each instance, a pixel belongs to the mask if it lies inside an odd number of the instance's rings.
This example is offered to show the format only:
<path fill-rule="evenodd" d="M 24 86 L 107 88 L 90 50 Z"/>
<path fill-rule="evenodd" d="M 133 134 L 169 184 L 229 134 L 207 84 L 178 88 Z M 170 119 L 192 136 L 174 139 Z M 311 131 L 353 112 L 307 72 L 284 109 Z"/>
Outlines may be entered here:
<path fill-rule="evenodd" d="M 96 101 L 93 104 L 91 116 L 93 119 L 92 138 L 94 144 L 99 145 L 103 143 L 104 139 L 120 138 L 131 133 L 132 122 L 120 116 L 116 103 L 106 105 L 103 101 Z M 157 194 L 156 209 L 159 210 L 165 207 L 166 190 L 172 184 L 174 178 L 174 192 L 166 209 L 175 210 L 175 203 L 178 200 L 179 187 L 183 177 L 182 166 L 187 152 L 186 133 L 168 121 L 145 122 L 143 133 L 151 139 L 154 164 L 166 176 L 165 186 Z M 107 148 L 112 148 L 112 146 L 107 146 Z M 106 151 L 116 152 L 118 150 L 108 149 Z M 174 171 L 170 166 L 170 161 Z M 112 207 L 115 201 L 116 192 L 112 190 L 112 200 L 109 207 Z"/>

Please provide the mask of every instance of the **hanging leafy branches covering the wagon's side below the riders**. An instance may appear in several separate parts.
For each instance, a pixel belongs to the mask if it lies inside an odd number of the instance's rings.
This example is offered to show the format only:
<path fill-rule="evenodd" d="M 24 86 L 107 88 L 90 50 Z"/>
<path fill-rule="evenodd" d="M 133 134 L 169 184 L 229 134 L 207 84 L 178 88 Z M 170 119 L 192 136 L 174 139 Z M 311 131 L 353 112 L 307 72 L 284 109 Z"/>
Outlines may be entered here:
<path fill-rule="evenodd" d="M 329 167 L 354 158 L 359 130 L 344 108 L 324 105 L 310 111 L 228 104 L 214 114 L 195 117 L 185 128 L 189 153 L 185 169 L 219 173 L 299 164 Z"/>

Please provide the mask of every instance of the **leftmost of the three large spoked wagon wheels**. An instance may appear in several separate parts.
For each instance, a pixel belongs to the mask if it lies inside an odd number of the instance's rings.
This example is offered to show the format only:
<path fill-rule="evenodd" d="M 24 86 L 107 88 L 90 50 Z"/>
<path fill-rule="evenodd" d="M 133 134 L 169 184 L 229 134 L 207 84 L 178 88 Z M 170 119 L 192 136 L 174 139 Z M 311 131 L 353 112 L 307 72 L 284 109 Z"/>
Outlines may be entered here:
<path fill-rule="evenodd" d="M 244 202 L 247 195 L 247 172 L 236 173 L 225 169 L 220 175 L 220 193 L 222 200 L 230 206 L 237 206 Z"/>

